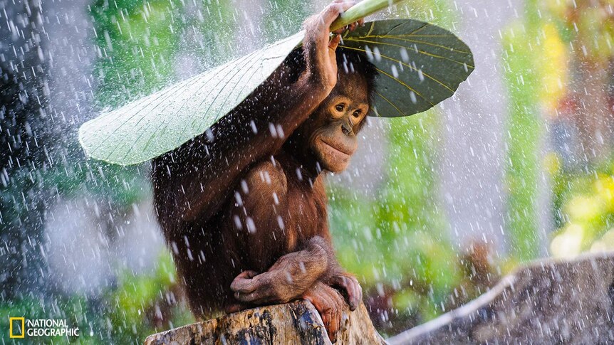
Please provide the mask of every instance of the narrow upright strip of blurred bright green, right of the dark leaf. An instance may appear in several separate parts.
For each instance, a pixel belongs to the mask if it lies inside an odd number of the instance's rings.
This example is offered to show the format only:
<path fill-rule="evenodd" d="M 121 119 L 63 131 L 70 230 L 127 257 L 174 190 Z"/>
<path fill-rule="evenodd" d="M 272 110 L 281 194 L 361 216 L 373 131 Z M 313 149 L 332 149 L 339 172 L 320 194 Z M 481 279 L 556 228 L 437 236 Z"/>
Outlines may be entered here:
<path fill-rule="evenodd" d="M 536 211 L 539 171 L 538 77 L 530 25 L 516 23 L 505 33 L 505 82 L 509 93 L 506 184 L 510 252 L 520 260 L 536 258 L 539 249 Z"/>

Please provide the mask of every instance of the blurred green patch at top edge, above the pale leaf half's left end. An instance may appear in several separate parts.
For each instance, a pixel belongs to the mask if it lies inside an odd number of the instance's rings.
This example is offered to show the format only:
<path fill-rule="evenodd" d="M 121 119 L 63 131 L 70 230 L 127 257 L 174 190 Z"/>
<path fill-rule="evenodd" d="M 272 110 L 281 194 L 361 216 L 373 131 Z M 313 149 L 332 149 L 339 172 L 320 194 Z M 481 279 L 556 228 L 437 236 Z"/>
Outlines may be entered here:
<path fill-rule="evenodd" d="M 170 6 L 169 1 L 98 0 L 91 7 L 103 61 L 97 68 L 99 97 L 118 97 L 118 86 L 130 97 L 172 75 L 177 28 L 169 25 L 175 21 Z"/>

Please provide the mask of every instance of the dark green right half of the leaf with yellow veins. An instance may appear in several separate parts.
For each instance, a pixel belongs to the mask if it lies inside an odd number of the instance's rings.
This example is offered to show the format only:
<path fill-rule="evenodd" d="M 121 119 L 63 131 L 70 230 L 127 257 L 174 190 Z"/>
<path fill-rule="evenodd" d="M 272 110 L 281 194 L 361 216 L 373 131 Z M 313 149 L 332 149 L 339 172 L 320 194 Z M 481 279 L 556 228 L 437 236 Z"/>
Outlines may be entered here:
<path fill-rule="evenodd" d="M 452 96 L 474 69 L 463 41 L 422 21 L 373 21 L 347 33 L 340 46 L 365 53 L 378 69 L 373 112 L 381 117 L 424 112 Z"/>

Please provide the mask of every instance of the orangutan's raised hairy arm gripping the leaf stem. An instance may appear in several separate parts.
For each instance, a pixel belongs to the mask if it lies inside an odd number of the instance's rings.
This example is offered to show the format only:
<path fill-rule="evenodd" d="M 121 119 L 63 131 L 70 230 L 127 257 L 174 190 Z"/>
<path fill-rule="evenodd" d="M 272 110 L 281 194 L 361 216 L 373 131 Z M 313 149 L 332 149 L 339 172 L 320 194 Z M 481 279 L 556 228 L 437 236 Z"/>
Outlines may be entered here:
<path fill-rule="evenodd" d="M 184 220 L 209 218 L 217 211 L 241 171 L 271 156 L 337 83 L 335 49 L 328 28 L 353 2 L 335 2 L 304 23 L 302 54 L 296 51 L 229 115 L 205 135 L 155 161 L 155 187 L 172 195 Z M 195 154 L 194 151 L 197 151 Z M 194 160 L 197 156 L 197 160 Z M 169 164 L 171 161 L 182 164 Z"/>

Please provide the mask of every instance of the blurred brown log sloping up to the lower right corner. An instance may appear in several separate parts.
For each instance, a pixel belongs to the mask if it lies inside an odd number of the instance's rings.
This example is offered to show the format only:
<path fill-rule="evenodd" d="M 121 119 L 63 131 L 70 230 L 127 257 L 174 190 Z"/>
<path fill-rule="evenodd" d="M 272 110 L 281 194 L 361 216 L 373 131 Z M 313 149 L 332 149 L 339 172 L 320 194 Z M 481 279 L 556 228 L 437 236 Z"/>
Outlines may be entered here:
<path fill-rule="evenodd" d="M 610 344 L 614 254 L 543 260 L 397 336 L 395 344 Z"/>

